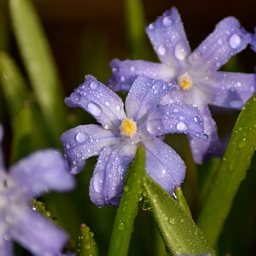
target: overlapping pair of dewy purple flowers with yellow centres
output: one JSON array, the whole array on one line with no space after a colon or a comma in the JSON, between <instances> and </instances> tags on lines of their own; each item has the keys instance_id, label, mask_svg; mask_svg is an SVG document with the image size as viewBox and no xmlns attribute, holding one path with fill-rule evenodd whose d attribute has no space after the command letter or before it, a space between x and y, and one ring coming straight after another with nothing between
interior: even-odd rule
<instances>
[{"instance_id":1,"label":"overlapping pair of dewy purple flowers with yellow centres","mask_svg":"<svg viewBox=\"0 0 256 256\"><path fill-rule=\"evenodd\" d=\"M102 125L80 125L61 137L67 168L74 174L83 170L87 158L99 154L90 180L90 199L98 207L119 205L137 143L146 148L146 172L172 195L183 182L185 165L160 135L186 133L199 164L222 156L224 148L208 105L241 109L255 91L255 74L218 71L255 42L235 18L221 20L193 52L175 8L146 32L161 63L110 63L113 77L108 87L129 91L125 109L119 96L92 76L66 99L69 107L83 108Z\"/></svg>"}]
</instances>

